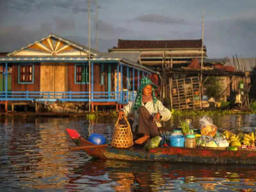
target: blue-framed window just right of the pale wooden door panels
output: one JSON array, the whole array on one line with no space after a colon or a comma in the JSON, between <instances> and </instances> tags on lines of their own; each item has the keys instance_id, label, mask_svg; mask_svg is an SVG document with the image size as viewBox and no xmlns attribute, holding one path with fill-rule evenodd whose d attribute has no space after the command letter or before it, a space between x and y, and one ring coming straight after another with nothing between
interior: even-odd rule
<instances>
[{"instance_id":1,"label":"blue-framed window just right of the pale wooden door panels","mask_svg":"<svg viewBox=\"0 0 256 192\"><path fill-rule=\"evenodd\" d=\"M76 83L89 83L88 64L76 65L75 76L76 76Z\"/></svg>"}]
</instances>

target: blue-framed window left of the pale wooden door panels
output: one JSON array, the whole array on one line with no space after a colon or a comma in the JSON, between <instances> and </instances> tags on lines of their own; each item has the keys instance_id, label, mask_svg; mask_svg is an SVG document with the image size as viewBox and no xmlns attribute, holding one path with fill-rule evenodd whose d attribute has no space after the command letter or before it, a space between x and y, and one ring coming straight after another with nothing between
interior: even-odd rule
<instances>
[{"instance_id":1,"label":"blue-framed window left of the pale wooden door panels","mask_svg":"<svg viewBox=\"0 0 256 192\"><path fill-rule=\"evenodd\" d=\"M34 83L34 65L19 65L19 83Z\"/></svg>"}]
</instances>

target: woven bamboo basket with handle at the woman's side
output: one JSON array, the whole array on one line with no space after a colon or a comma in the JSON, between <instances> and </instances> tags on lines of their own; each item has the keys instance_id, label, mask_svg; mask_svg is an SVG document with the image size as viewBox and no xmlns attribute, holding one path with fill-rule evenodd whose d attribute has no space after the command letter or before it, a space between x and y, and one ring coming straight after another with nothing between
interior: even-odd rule
<instances>
[{"instance_id":1,"label":"woven bamboo basket with handle at the woman's side","mask_svg":"<svg viewBox=\"0 0 256 192\"><path fill-rule=\"evenodd\" d=\"M120 118L116 121L116 125L112 135L111 145L116 148L128 148L133 145L133 137L131 126L124 116L125 124L120 124Z\"/></svg>"}]
</instances>

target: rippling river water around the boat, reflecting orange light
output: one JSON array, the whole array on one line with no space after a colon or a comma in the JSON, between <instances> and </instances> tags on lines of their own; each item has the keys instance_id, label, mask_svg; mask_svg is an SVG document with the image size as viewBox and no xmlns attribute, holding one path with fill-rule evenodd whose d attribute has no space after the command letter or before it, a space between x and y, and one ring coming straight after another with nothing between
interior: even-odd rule
<instances>
[{"instance_id":1,"label":"rippling river water around the boat, reflecting orange light","mask_svg":"<svg viewBox=\"0 0 256 192\"><path fill-rule=\"evenodd\" d=\"M199 127L198 117L191 117ZM213 116L219 130L248 131L256 115ZM172 120L173 127L178 120ZM0 191L256 191L256 166L92 159L70 151L65 129L104 134L115 119L0 118Z\"/></svg>"}]
</instances>

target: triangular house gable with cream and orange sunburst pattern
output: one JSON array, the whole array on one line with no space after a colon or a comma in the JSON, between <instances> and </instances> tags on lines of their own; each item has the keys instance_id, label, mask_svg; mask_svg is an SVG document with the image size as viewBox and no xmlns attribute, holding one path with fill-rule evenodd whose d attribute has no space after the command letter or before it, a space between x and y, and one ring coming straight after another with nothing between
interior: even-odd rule
<instances>
[{"instance_id":1,"label":"triangular house gable with cream and orange sunburst pattern","mask_svg":"<svg viewBox=\"0 0 256 192\"><path fill-rule=\"evenodd\" d=\"M91 51L96 56L96 51ZM42 40L29 44L8 56L88 56L88 48L70 42L56 35L49 35Z\"/></svg>"}]
</instances>

